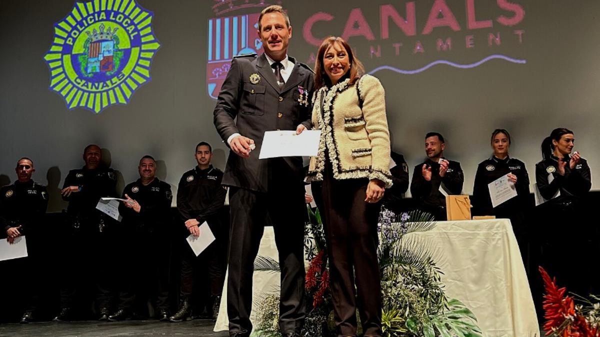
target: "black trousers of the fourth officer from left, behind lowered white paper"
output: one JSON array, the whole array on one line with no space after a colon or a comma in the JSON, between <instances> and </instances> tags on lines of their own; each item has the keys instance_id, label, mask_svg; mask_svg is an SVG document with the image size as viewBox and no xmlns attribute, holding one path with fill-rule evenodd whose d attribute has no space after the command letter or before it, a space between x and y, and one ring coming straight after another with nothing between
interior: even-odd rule
<instances>
[{"instance_id":1,"label":"black trousers of the fourth officer from left, behind lowered white paper","mask_svg":"<svg viewBox=\"0 0 600 337\"><path fill-rule=\"evenodd\" d=\"M194 270L208 270L202 275L207 275L211 285L211 296L221 296L225 282L225 271L227 269L227 240L229 233L221 233L220 224L212 225L211 231L215 241L208 246L200 255L191 250L185 243L181 260L181 294L190 296L194 288ZM198 274L198 273L196 273Z\"/></svg>"}]
</instances>

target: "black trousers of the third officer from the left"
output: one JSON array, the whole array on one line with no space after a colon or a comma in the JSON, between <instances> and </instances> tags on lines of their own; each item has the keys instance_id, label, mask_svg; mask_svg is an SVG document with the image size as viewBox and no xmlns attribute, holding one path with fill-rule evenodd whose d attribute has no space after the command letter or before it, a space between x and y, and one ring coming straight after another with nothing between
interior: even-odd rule
<instances>
[{"instance_id":1,"label":"black trousers of the third officer from the left","mask_svg":"<svg viewBox=\"0 0 600 337\"><path fill-rule=\"evenodd\" d=\"M131 312L145 308L150 299L158 310L169 309L170 240L166 234L133 233L119 245L121 273L115 279L119 288L119 309ZM137 303L136 303L137 302Z\"/></svg>"}]
</instances>

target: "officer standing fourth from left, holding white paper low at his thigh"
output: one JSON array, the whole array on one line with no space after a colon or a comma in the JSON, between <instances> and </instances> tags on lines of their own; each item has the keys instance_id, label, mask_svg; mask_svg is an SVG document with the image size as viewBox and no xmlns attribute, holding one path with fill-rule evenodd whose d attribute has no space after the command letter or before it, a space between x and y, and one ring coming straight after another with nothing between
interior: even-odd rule
<instances>
[{"instance_id":1,"label":"officer standing fourth from left, holding white paper low at his thigh","mask_svg":"<svg viewBox=\"0 0 600 337\"><path fill-rule=\"evenodd\" d=\"M177 209L187 228L188 234L199 236L199 226L205 221L215 236L205 251L198 257L185 243L182 247L181 261L181 306L179 311L169 318L172 322L190 320L192 316L191 295L194 286L194 269L208 269L211 291L211 314L217 319L221 293L227 268L227 244L229 226L223 223L223 204L227 190L221 186L223 172L211 165L212 148L206 142L196 145L195 157L198 165L187 171L179 180L177 190Z\"/></svg>"}]
</instances>

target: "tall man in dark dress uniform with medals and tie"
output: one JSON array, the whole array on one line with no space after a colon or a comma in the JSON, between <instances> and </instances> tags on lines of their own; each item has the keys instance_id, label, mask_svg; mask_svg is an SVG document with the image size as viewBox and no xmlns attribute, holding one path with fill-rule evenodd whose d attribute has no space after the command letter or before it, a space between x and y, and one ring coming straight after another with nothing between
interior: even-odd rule
<instances>
[{"instance_id":1,"label":"tall man in dark dress uniform with medals and tie","mask_svg":"<svg viewBox=\"0 0 600 337\"><path fill-rule=\"evenodd\" d=\"M223 177L231 205L229 333L252 330L253 263L269 215L281 266L280 328L295 336L305 317L302 158L258 157L265 131L312 127L313 72L287 56L292 27L281 6L262 11L257 33L265 53L233 59L214 110L215 127L232 149Z\"/></svg>"}]
</instances>

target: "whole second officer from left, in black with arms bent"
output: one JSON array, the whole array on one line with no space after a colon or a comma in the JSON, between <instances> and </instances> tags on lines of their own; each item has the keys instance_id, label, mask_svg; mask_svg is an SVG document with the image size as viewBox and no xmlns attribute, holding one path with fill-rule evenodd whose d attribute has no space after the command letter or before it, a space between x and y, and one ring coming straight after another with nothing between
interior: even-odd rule
<instances>
[{"instance_id":1,"label":"whole second officer from left, in black with arms bent","mask_svg":"<svg viewBox=\"0 0 600 337\"><path fill-rule=\"evenodd\" d=\"M109 216L96 209L101 197L115 197L115 171L101 164L101 149L98 145L88 145L83 151L85 166L69 171L61 194L69 202L67 219L61 238L64 270L61 280L61 311L54 321L73 317L73 305L77 290L94 285L96 305L100 317L106 320L109 315L110 289L109 260L107 253L112 251L106 236L107 229L114 224Z\"/></svg>"}]
</instances>

